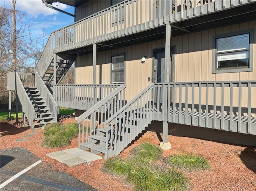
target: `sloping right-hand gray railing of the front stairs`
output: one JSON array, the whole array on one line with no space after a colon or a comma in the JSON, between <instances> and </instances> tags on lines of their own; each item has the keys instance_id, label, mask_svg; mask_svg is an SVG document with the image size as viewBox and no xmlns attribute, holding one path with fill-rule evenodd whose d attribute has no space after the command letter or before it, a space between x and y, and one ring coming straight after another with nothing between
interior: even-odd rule
<instances>
[{"instance_id":1,"label":"sloping right-hand gray railing of the front stairs","mask_svg":"<svg viewBox=\"0 0 256 191\"><path fill-rule=\"evenodd\" d=\"M112 115L110 118L108 118L108 120L106 120L104 126L106 126L106 140L107 143L109 141L109 144L106 144L106 151L105 151L105 158L107 158L109 155L113 156L113 155L118 155L120 154L120 152L123 150L123 148L125 148L128 144L130 144L130 142L133 140L133 138L135 136L138 136L138 134L148 125L150 124L150 122L153 120L153 111L152 109L152 90L154 88L154 83L151 83L148 87L146 87L141 93L139 93L137 96L135 96L130 102L128 102L125 106L123 106L122 108L120 108L120 110L118 112L116 112L114 115ZM148 96L149 94L149 96ZM142 112L142 108L144 108L144 106L142 107L143 104L145 104L145 95L147 95L147 100L146 100L146 110L148 112L146 113L140 113L140 116L138 117L138 113L137 113L137 118L143 118L144 120L142 121L143 123L141 123L141 120L137 120L137 126L140 126L140 129L136 130L136 132L131 132L130 130L130 134L133 134L134 137L130 138L130 140L128 140L128 124L125 123L129 123L129 119L127 117L125 117L127 115L128 112L131 112L132 109L140 109L140 112ZM142 96L144 96L144 103L142 103ZM140 101L140 102L139 102ZM137 106L136 106L136 102L137 102ZM139 106L140 104L140 106ZM133 113L133 117L135 118L135 113ZM146 116L147 115L147 116ZM144 116L144 117L143 117ZM134 120L133 118L133 120ZM146 120L145 120L146 118ZM116 119L116 120L115 120ZM115 121L114 121L115 120ZM132 119L131 119L132 120ZM119 125L123 125L126 128L126 134L125 134L125 130L123 129L121 132L121 129L119 130L113 130L113 126L116 126L116 123L119 123ZM140 123L140 124L139 124ZM109 125L111 124L111 125ZM135 121L134 121L135 124ZM133 124L133 125L134 125ZM111 129L110 129L111 127ZM117 127L115 127L117 128ZM119 127L120 128L120 127ZM121 135L122 133L122 135ZM120 141L120 137L122 136L122 141L125 142L123 144L123 148L120 148L120 142L119 142L119 146L118 146L118 141ZM117 140L117 137L119 137L119 140ZM115 146L115 147L114 147ZM118 150L119 148L119 150ZM114 154L113 154L113 149L114 149ZM108 152L110 150L110 152Z\"/></svg>"}]
</instances>

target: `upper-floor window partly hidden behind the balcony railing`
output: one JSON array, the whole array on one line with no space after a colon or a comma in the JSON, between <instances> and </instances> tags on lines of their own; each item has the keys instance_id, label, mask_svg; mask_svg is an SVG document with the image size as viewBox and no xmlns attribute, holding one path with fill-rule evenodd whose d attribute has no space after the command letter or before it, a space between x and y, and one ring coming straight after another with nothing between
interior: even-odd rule
<instances>
[{"instance_id":1,"label":"upper-floor window partly hidden behind the balcony railing","mask_svg":"<svg viewBox=\"0 0 256 191\"><path fill-rule=\"evenodd\" d=\"M111 6L122 2L123 0L112 0ZM120 6L115 6L114 11L112 11L112 25L122 24L124 23L124 16L125 16L125 8L124 4Z\"/></svg>"}]
</instances>

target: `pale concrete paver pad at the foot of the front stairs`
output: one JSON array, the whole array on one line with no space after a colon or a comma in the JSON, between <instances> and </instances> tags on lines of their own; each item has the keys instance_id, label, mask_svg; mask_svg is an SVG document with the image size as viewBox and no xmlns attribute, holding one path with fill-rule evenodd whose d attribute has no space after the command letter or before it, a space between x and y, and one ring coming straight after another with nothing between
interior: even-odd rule
<instances>
[{"instance_id":1,"label":"pale concrete paver pad at the foot of the front stairs","mask_svg":"<svg viewBox=\"0 0 256 191\"><path fill-rule=\"evenodd\" d=\"M56 151L53 153L48 153L46 154L46 156L52 159L56 159L61 163L64 163L70 167L78 164L102 159L101 156L98 156L88 151L84 151L79 148L71 148L71 149L66 149L62 151Z\"/></svg>"}]
</instances>

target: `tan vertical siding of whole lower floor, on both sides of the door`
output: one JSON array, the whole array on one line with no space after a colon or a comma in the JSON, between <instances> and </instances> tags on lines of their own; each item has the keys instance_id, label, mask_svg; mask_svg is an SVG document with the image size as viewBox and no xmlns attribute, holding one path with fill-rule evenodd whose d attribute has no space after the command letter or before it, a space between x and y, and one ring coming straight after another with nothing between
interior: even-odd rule
<instances>
[{"instance_id":1,"label":"tan vertical siding of whole lower floor, on both sides of the door","mask_svg":"<svg viewBox=\"0 0 256 191\"><path fill-rule=\"evenodd\" d=\"M254 71L252 72L237 72L237 73L221 73L212 74L212 38L214 35L236 32L239 30L246 30L254 28L256 30L255 22L247 22L226 26L223 28L216 28L202 32L191 33L189 35L181 35L172 37L171 45L174 46L175 55L175 68L174 68L174 81L175 82L193 82L193 81L246 81L256 80L256 58L254 56ZM256 32L255 32L256 33ZM254 33L254 35L255 35ZM254 38L256 39L256 37ZM255 40L254 40L255 41ZM126 98L131 100L134 96L138 95L145 87L151 83L152 78L152 50L162 48L165 45L165 39L152 41L148 43L141 43L132 45L125 48L113 49L110 51L97 53L97 83L112 83L110 81L111 55L125 53L125 82ZM256 43L254 43L254 50ZM146 63L141 63L141 58L147 56ZM100 70L100 67L102 68ZM148 77L150 82L148 82ZM76 83L77 84L90 84L92 83L92 55L83 55L76 58ZM224 88L225 98L224 104L229 103L230 93L228 87ZM242 87L242 90L244 88ZM188 92L191 95L192 90ZM252 88L252 95L255 95L255 89ZM242 91L243 92L243 91ZM194 88L194 103L199 104L199 94L206 95L206 88ZM209 95L213 95L213 89L208 90ZM216 87L216 95L221 95L222 88ZM233 96L238 98L238 87L233 88ZM244 93L244 92L243 92ZM254 93L254 94L253 94ZM242 95L243 97L244 95ZM185 87L182 88L181 101L185 101ZM176 92L176 102L179 102L178 92ZM188 101L192 102L192 97L188 96ZM252 106L256 103L252 100ZM242 98L242 105L247 103L247 99ZM201 100L201 104L206 104L206 99ZM213 104L213 98L208 99L209 110L213 111L210 106ZM222 100L216 100L217 106L221 106ZM234 107L238 107L238 99L233 100ZM203 110L203 108L202 108ZM218 108L217 108L218 110ZM218 110L217 112L220 112Z\"/></svg>"}]
</instances>

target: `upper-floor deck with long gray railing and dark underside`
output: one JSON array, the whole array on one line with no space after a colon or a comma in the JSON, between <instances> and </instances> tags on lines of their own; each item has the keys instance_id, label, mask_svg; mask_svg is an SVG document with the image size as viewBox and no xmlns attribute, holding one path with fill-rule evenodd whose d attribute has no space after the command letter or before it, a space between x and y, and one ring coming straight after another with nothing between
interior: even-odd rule
<instances>
[{"instance_id":1,"label":"upper-floor deck with long gray railing and dark underside","mask_svg":"<svg viewBox=\"0 0 256 191\"><path fill-rule=\"evenodd\" d=\"M52 32L36 65L43 74L54 53L73 55L91 51L94 43L99 49L116 47L118 43L131 43L160 37L168 23L172 35L178 35L214 24L225 25L255 18L255 0L126 0L82 20ZM231 10L232 9L232 10ZM222 12L220 14L220 12ZM141 34L145 32L145 34ZM145 39L144 37L147 36ZM125 37L125 39L124 39ZM123 38L123 39L117 39Z\"/></svg>"}]
</instances>

